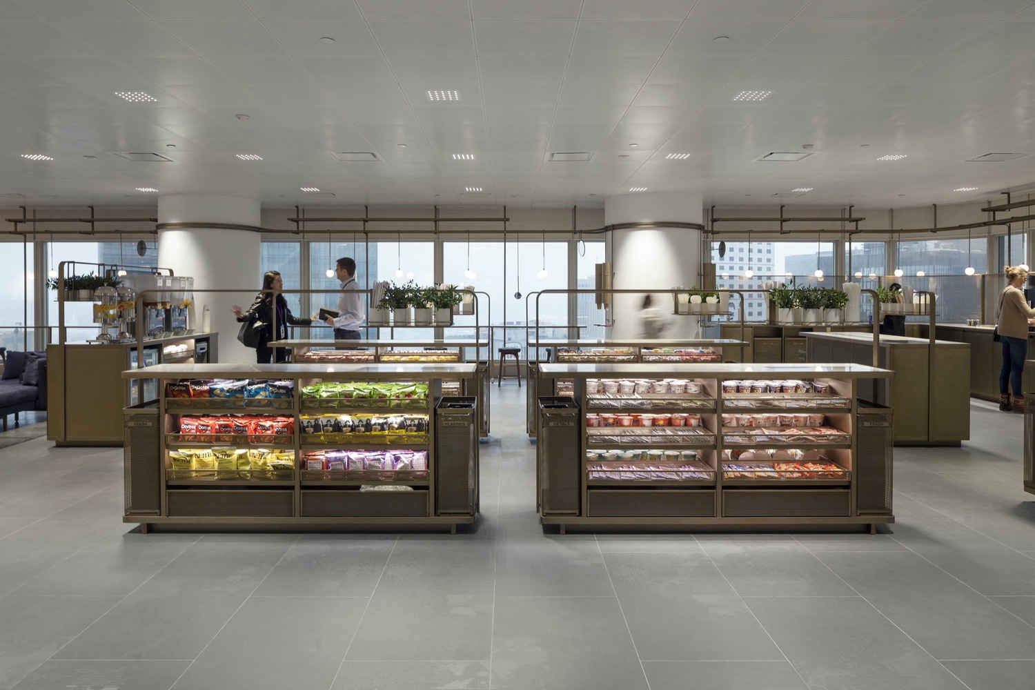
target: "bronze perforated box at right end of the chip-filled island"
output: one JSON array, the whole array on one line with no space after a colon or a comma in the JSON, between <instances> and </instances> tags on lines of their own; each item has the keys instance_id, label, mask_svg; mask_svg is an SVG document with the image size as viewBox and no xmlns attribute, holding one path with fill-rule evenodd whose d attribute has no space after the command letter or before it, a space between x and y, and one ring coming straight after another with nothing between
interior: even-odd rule
<instances>
[{"instance_id":1,"label":"bronze perforated box at right end of the chip-filled island","mask_svg":"<svg viewBox=\"0 0 1035 690\"><path fill-rule=\"evenodd\" d=\"M435 408L435 514L474 515L477 399L443 397Z\"/></svg>"}]
</instances>

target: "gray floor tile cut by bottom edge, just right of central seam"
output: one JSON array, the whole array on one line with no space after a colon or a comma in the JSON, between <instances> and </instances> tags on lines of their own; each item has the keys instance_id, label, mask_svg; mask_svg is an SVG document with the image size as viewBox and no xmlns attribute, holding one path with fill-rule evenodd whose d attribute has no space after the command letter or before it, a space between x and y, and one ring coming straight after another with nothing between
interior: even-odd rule
<instances>
[{"instance_id":1,"label":"gray floor tile cut by bottom edge, just right of central seam","mask_svg":"<svg viewBox=\"0 0 1035 690\"><path fill-rule=\"evenodd\" d=\"M498 599L492 659L498 690L647 688L615 599Z\"/></svg>"}]
</instances>

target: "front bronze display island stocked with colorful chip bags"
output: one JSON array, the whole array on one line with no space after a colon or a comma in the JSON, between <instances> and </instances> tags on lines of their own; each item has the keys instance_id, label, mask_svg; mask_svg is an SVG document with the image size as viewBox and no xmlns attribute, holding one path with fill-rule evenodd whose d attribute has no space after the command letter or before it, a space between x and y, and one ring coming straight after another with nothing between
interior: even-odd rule
<instances>
[{"instance_id":1,"label":"front bronze display island stocked with colorful chip bags","mask_svg":"<svg viewBox=\"0 0 1035 690\"><path fill-rule=\"evenodd\" d=\"M475 520L474 364L158 365L125 410L126 522L440 528Z\"/></svg>"}]
</instances>

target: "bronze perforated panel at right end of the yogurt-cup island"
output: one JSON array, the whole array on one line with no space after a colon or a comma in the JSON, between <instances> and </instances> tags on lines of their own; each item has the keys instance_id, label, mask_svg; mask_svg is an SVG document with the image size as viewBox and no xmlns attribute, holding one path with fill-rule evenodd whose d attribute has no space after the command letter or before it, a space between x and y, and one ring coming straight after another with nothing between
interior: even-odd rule
<instances>
[{"instance_id":1,"label":"bronze perforated panel at right end of the yogurt-cup island","mask_svg":"<svg viewBox=\"0 0 1035 690\"><path fill-rule=\"evenodd\" d=\"M887 408L860 409L856 417L856 512L859 515L891 513L894 469L893 416Z\"/></svg>"}]
</instances>

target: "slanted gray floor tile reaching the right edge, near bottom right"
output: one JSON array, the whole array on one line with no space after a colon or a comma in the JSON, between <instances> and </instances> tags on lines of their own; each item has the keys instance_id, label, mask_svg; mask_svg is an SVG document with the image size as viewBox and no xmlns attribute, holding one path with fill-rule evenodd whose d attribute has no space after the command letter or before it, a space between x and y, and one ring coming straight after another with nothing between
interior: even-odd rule
<instances>
[{"instance_id":1,"label":"slanted gray floor tile reaching the right edge, near bottom right","mask_svg":"<svg viewBox=\"0 0 1035 690\"><path fill-rule=\"evenodd\" d=\"M915 553L820 558L936 659L1035 653L1035 629Z\"/></svg>"}]
</instances>

